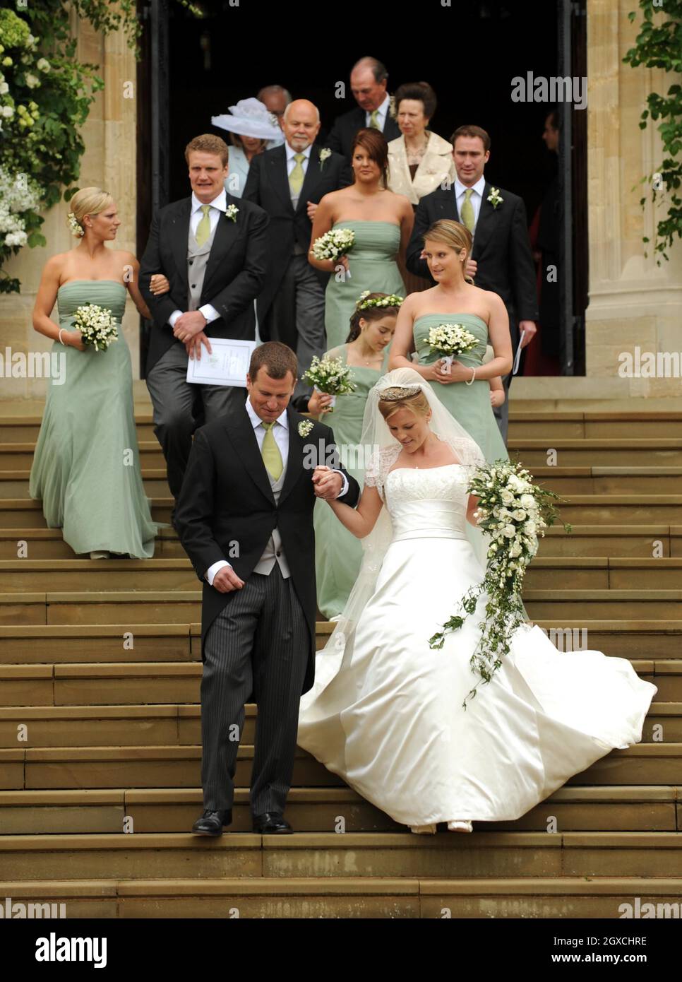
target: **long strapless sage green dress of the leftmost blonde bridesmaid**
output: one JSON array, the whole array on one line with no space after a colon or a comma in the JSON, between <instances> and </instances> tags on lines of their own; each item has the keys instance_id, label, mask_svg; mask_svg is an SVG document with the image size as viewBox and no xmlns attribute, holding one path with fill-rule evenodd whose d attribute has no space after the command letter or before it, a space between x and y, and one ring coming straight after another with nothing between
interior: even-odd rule
<instances>
[{"instance_id":1,"label":"long strapless sage green dress of the leftmost blonde bridesmaid","mask_svg":"<svg viewBox=\"0 0 682 982\"><path fill-rule=\"evenodd\" d=\"M119 336L101 352L54 342L53 356L66 358L64 383L50 379L28 492L75 553L149 559L158 526L142 485L131 353L120 328L126 296L115 280L72 280L59 288L61 327L72 330L76 308L97 303L112 311Z\"/></svg>"}]
</instances>

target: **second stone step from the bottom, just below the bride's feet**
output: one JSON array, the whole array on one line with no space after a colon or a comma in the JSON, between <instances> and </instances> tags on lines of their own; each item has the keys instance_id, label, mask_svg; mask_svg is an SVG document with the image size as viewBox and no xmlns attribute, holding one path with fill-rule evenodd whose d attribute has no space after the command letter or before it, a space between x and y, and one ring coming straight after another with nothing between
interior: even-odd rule
<instances>
[{"instance_id":1,"label":"second stone step from the bottom, just below the bride's feet","mask_svg":"<svg viewBox=\"0 0 682 982\"><path fill-rule=\"evenodd\" d=\"M672 832L183 833L0 836L10 881L206 877L682 876ZM646 880L644 881L646 883Z\"/></svg>"}]
</instances>

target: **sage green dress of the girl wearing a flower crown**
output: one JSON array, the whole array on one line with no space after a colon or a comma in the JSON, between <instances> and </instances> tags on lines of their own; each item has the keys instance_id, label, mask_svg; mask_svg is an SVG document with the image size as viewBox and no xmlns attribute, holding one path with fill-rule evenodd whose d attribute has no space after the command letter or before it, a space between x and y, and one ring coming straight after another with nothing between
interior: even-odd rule
<instances>
[{"instance_id":1,"label":"sage green dress of the girl wearing a flower crown","mask_svg":"<svg viewBox=\"0 0 682 982\"><path fill-rule=\"evenodd\" d=\"M322 420L334 430L334 438L341 452L343 445L359 447L362 437L362 416L370 393L389 366L389 345L384 351L381 371L358 365L350 366L350 378L355 383L354 392L337 396L333 412L325 412ZM334 349L327 354L341 357L348 363L348 346ZM367 461L362 453L350 453L347 461L342 460L346 470L355 478L360 487L364 482ZM358 464L353 466L352 464ZM348 594L357 579L362 562L362 544L341 524L327 502L315 502L313 510L315 528L315 577L317 579L317 606L326 618L341 614Z\"/></svg>"}]
</instances>

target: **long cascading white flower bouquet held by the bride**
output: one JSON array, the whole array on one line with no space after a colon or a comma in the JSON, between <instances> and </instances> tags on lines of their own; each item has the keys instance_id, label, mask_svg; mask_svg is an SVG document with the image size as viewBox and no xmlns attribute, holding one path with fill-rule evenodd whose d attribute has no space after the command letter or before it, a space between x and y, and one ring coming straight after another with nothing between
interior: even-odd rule
<instances>
[{"instance_id":1,"label":"long cascading white flower bouquet held by the bride","mask_svg":"<svg viewBox=\"0 0 682 982\"><path fill-rule=\"evenodd\" d=\"M558 518L553 501L559 495L533 484L521 464L496 461L477 467L468 486L477 495L479 526L490 537L486 575L459 601L462 614L453 615L429 638L429 646L442 648L448 631L457 630L473 614L482 593L487 595L485 619L478 645L471 656L471 670L481 676L462 705L476 695L480 682L490 682L509 652L509 638L524 621L521 590L523 577L538 551L538 536ZM571 526L564 522L570 532Z\"/></svg>"}]
</instances>

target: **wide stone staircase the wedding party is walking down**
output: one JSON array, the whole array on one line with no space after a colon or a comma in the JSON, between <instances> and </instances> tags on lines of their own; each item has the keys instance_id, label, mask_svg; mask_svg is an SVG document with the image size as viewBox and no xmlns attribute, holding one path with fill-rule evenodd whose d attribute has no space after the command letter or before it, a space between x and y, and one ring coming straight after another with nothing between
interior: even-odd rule
<instances>
[{"instance_id":1,"label":"wide stone staircase the wedding party is walking down","mask_svg":"<svg viewBox=\"0 0 682 982\"><path fill-rule=\"evenodd\" d=\"M509 450L568 500L527 576L557 645L658 686L643 742L516 822L414 836L299 751L289 837L198 839L200 591L175 533L148 561L76 559L27 481L39 416L0 410L0 897L68 917L606 917L682 893L682 412L511 414ZM153 515L170 517L148 411ZM21 556L22 558L19 558ZM318 646L330 626L318 625ZM584 632L587 632L587 637ZM4 891L4 894L3 894Z\"/></svg>"}]
</instances>

